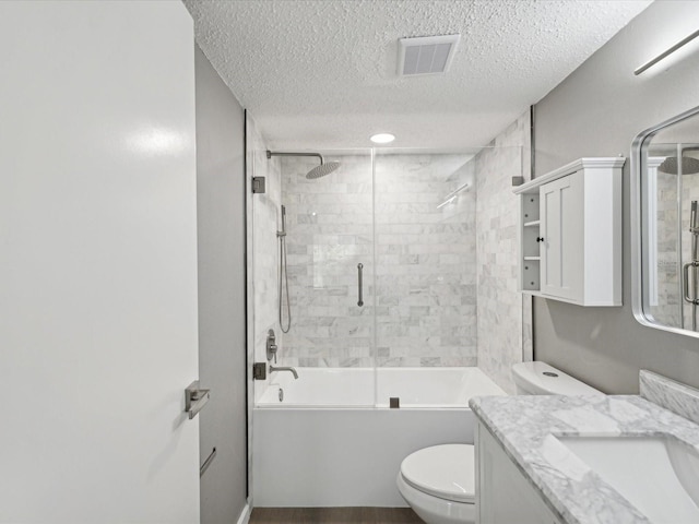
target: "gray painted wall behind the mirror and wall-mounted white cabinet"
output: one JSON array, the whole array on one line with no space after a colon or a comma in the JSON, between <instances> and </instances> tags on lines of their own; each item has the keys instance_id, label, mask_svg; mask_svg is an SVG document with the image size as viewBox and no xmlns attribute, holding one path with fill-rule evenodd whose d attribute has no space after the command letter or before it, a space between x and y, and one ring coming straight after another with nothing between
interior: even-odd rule
<instances>
[{"instance_id":1,"label":"gray painted wall behind the mirror and wall-mounted white cabinet","mask_svg":"<svg viewBox=\"0 0 699 524\"><path fill-rule=\"evenodd\" d=\"M694 32L697 20L699 2L651 4L543 98L535 117L536 176L582 156L628 156L641 130L699 105L699 52L660 71L632 73ZM638 392L639 369L699 386L699 341L643 327L631 311L629 176L627 162L624 307L536 298L535 356L607 393Z\"/></svg>"}]
</instances>

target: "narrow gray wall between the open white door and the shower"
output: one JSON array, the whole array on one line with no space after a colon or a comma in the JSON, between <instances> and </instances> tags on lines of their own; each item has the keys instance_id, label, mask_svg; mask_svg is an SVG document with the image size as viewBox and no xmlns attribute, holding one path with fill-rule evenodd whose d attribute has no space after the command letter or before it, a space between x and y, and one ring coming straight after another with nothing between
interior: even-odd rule
<instances>
[{"instance_id":1,"label":"narrow gray wall between the open white door and the shower","mask_svg":"<svg viewBox=\"0 0 699 524\"><path fill-rule=\"evenodd\" d=\"M244 111L197 48L199 377L202 524L237 522L247 499Z\"/></svg>"}]
</instances>

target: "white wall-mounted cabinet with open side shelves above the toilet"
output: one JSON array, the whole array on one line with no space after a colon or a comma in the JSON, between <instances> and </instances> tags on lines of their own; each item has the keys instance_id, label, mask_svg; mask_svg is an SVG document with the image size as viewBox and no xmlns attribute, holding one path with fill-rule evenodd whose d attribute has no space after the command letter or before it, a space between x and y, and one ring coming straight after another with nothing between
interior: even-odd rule
<instances>
[{"instance_id":1,"label":"white wall-mounted cabinet with open side shelves above the toilet","mask_svg":"<svg viewBox=\"0 0 699 524\"><path fill-rule=\"evenodd\" d=\"M519 289L580 306L621 306L621 169L580 158L514 189Z\"/></svg>"}]
</instances>

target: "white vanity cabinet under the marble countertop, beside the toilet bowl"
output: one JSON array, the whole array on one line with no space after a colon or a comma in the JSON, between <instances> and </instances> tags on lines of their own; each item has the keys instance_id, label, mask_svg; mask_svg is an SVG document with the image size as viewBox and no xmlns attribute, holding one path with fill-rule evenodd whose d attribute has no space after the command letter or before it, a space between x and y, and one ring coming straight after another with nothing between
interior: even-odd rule
<instances>
[{"instance_id":1,"label":"white vanity cabinet under the marble countertop, beside the toilet bowl","mask_svg":"<svg viewBox=\"0 0 699 524\"><path fill-rule=\"evenodd\" d=\"M562 524L482 422L475 444L476 524Z\"/></svg>"}]
</instances>

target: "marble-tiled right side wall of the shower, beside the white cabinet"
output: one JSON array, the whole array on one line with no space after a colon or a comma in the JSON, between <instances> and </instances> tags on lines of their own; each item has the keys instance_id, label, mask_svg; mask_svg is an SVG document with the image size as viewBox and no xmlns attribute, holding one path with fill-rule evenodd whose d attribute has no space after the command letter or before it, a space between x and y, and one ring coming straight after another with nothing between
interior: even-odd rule
<instances>
[{"instance_id":1,"label":"marble-tiled right side wall of the shower, beside the white cabinet","mask_svg":"<svg viewBox=\"0 0 699 524\"><path fill-rule=\"evenodd\" d=\"M531 178L529 130L528 112L475 159L478 367L508 393L514 393L510 367L532 353L532 299L517 290L519 213L511 186L511 177Z\"/></svg>"}]
</instances>

